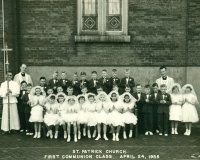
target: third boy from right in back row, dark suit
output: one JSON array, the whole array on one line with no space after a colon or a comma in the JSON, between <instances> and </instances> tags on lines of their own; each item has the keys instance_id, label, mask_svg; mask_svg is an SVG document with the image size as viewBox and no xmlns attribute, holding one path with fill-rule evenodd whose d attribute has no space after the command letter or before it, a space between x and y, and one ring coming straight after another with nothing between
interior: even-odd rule
<instances>
[{"instance_id":1,"label":"third boy from right in back row, dark suit","mask_svg":"<svg viewBox=\"0 0 200 160\"><path fill-rule=\"evenodd\" d=\"M102 86L104 92L106 92L107 94L110 93L110 90L111 90L110 79L107 78L106 69L102 71L102 77L99 79L99 85Z\"/></svg>"}]
</instances>

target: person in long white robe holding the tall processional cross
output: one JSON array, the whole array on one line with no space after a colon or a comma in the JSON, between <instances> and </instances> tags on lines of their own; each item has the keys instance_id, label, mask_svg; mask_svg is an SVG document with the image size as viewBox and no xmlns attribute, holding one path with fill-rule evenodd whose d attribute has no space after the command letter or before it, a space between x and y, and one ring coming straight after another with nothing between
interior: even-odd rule
<instances>
[{"instance_id":1,"label":"person in long white robe holding the tall processional cross","mask_svg":"<svg viewBox=\"0 0 200 160\"><path fill-rule=\"evenodd\" d=\"M0 96L3 98L1 129L4 132L9 131L9 123L10 123L10 130L20 129L19 115L17 110L17 98L16 98L20 93L20 86L17 84L17 82L12 81L12 78L13 74L11 72L8 72L7 80L9 81L9 89L7 88L8 87L7 81L3 82L0 88ZM8 96L10 98L9 110L8 110ZM8 116L8 114L10 115Z\"/></svg>"}]
</instances>

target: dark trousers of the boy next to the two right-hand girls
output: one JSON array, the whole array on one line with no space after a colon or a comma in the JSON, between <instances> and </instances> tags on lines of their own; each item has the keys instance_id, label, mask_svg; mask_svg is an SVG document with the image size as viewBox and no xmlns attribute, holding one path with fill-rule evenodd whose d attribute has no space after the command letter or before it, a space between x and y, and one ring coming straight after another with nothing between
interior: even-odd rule
<instances>
[{"instance_id":1,"label":"dark trousers of the boy next to the two right-hand girls","mask_svg":"<svg viewBox=\"0 0 200 160\"><path fill-rule=\"evenodd\" d=\"M169 113L158 113L159 132L168 134Z\"/></svg>"}]
</instances>

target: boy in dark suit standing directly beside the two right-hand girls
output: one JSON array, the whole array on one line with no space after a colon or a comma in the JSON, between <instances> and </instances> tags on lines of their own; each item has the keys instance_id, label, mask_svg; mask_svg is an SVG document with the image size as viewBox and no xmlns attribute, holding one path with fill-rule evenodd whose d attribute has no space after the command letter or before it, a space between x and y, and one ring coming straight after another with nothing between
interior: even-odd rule
<instances>
[{"instance_id":1,"label":"boy in dark suit standing directly beside the two right-hand girls","mask_svg":"<svg viewBox=\"0 0 200 160\"><path fill-rule=\"evenodd\" d=\"M167 86L160 86L161 93L157 95L159 135L168 136L169 106L172 104L171 96L166 93Z\"/></svg>"}]
</instances>

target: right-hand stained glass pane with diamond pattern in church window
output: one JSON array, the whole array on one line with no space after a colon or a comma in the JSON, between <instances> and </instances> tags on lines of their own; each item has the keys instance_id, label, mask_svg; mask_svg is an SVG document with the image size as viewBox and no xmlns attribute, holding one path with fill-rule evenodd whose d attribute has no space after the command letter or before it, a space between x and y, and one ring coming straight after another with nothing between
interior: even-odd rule
<instances>
[{"instance_id":1,"label":"right-hand stained glass pane with diamond pattern in church window","mask_svg":"<svg viewBox=\"0 0 200 160\"><path fill-rule=\"evenodd\" d=\"M106 1L106 30L122 31L122 0Z\"/></svg>"}]
</instances>

